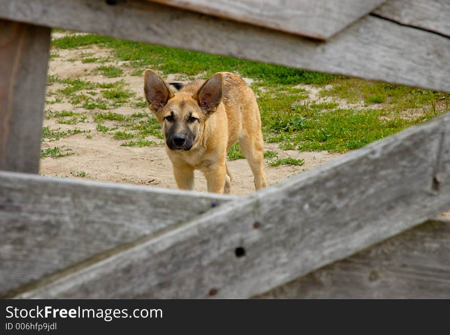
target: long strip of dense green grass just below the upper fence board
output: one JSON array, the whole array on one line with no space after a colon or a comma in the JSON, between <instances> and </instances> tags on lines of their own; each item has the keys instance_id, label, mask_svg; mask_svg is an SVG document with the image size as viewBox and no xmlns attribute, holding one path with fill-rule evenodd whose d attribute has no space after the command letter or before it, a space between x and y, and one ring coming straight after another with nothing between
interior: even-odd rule
<instances>
[{"instance_id":1,"label":"long strip of dense green grass just below the upper fence board","mask_svg":"<svg viewBox=\"0 0 450 335\"><path fill-rule=\"evenodd\" d=\"M239 73L243 77L253 78L260 81L260 84L268 86L299 83L326 84L335 78L335 76L329 74L154 46L147 43L137 43L93 34L64 36L52 41L52 46L56 49L73 49L91 45L114 49L115 56L118 59L129 61L131 66L140 68L139 71L142 71L141 69L144 67L148 67L163 73L185 73L191 76L205 73L205 77L219 71L229 71ZM105 71L108 72L109 70ZM111 72L114 76L119 74L119 71L114 69L111 69ZM142 75L142 72L139 74L137 70L135 74Z\"/></svg>"}]
</instances>

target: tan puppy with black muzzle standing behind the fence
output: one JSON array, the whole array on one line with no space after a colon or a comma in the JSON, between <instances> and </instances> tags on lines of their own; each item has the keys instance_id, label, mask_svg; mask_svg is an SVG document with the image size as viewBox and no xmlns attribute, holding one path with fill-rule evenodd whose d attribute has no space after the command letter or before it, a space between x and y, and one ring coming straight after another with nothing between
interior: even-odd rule
<instances>
[{"instance_id":1,"label":"tan puppy with black muzzle standing behind the fence","mask_svg":"<svg viewBox=\"0 0 450 335\"><path fill-rule=\"evenodd\" d=\"M192 190L194 170L206 177L208 191L230 193L232 175L227 151L239 140L253 172L255 188L267 186L263 171L261 118L255 95L243 80L219 72L172 93L156 72L145 71L148 107L162 125L166 152L180 189Z\"/></svg>"}]
</instances>

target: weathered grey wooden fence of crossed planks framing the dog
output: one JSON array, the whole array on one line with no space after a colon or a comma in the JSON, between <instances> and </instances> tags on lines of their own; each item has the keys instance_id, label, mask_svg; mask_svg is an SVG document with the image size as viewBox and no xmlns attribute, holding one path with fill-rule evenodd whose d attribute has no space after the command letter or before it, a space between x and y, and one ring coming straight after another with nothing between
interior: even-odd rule
<instances>
[{"instance_id":1,"label":"weathered grey wooden fence of crossed planks framing the dog","mask_svg":"<svg viewBox=\"0 0 450 335\"><path fill-rule=\"evenodd\" d=\"M47 27L450 92L444 0L157 2L0 0L0 296L450 297L450 114L245 197L33 174Z\"/></svg>"}]
</instances>

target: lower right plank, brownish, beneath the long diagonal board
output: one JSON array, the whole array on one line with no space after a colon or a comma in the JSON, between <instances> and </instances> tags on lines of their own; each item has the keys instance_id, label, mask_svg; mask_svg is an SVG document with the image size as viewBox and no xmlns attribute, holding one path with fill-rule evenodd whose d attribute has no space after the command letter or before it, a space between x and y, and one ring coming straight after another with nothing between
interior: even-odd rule
<instances>
[{"instance_id":1,"label":"lower right plank, brownish, beneath the long diagonal board","mask_svg":"<svg viewBox=\"0 0 450 335\"><path fill-rule=\"evenodd\" d=\"M450 221L429 221L258 299L449 299Z\"/></svg>"}]
</instances>

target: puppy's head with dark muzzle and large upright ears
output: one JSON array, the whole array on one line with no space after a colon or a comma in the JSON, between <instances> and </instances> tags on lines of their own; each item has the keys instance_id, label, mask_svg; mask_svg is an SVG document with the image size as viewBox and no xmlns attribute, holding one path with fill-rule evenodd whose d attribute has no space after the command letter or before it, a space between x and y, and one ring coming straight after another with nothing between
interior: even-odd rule
<instances>
[{"instance_id":1,"label":"puppy's head with dark muzzle and large upright ears","mask_svg":"<svg viewBox=\"0 0 450 335\"><path fill-rule=\"evenodd\" d=\"M159 74L145 70L148 107L160 121L170 150L190 150L201 138L205 122L222 99L222 74L210 77L198 90L172 93Z\"/></svg>"}]
</instances>

